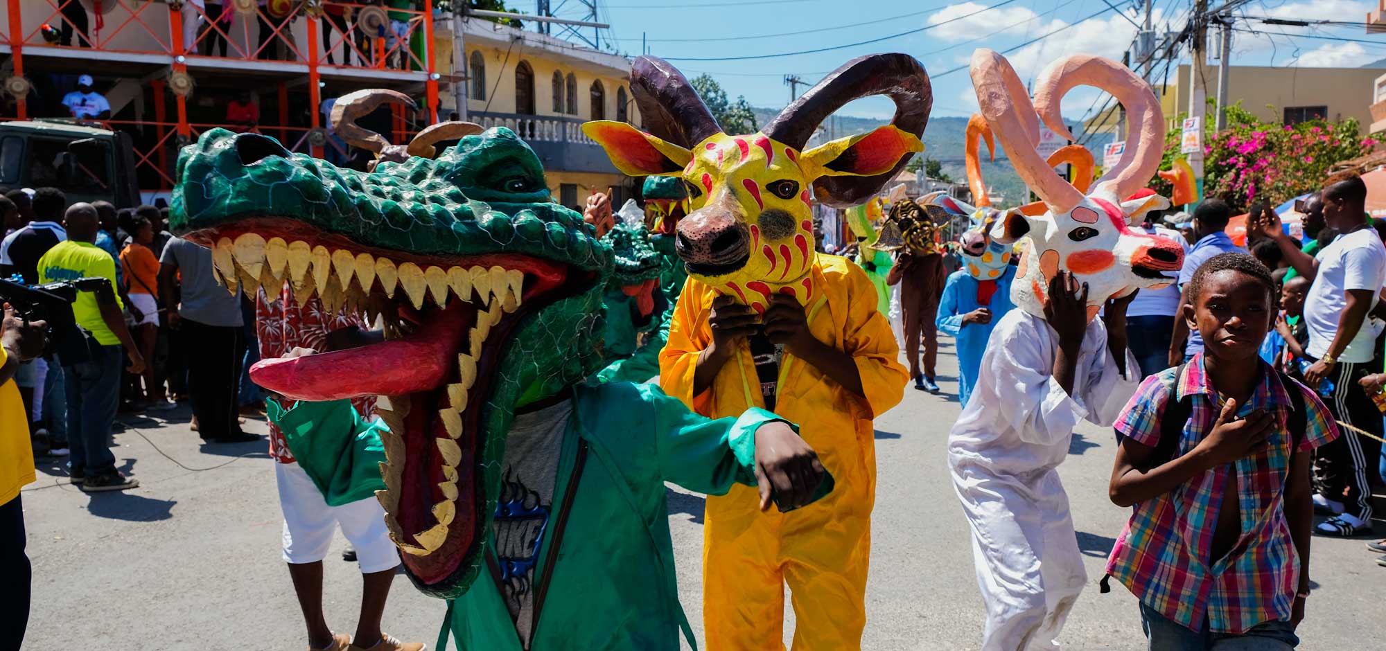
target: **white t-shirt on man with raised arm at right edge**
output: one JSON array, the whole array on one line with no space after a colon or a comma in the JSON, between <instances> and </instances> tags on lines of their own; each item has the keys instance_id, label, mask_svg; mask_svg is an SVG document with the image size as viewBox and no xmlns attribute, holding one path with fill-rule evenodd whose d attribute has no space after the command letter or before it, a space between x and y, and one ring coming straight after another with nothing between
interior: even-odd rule
<instances>
[{"instance_id":1,"label":"white t-shirt on man with raised arm at right edge","mask_svg":"<svg viewBox=\"0 0 1386 651\"><path fill-rule=\"evenodd\" d=\"M1349 289L1369 289L1371 305L1376 306L1378 294L1386 284L1386 247L1376 229L1361 229L1337 235L1314 258L1318 259L1318 274L1304 296L1304 324L1308 327L1307 352L1322 357L1337 334L1337 320L1347 307ZM1375 339L1372 328L1364 324L1337 360L1371 362Z\"/></svg>"}]
</instances>

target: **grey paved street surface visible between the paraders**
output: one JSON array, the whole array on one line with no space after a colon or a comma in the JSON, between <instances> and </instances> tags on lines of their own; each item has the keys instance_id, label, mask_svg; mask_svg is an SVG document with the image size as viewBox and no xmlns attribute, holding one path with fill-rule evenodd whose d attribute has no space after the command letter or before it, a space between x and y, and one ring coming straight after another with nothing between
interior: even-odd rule
<instances>
[{"instance_id":1,"label":"grey paved street surface visible between the paraders","mask_svg":"<svg viewBox=\"0 0 1386 651\"><path fill-rule=\"evenodd\" d=\"M872 544L869 621L863 648L972 650L981 634L981 600L966 524L944 461L958 414L951 348L940 355L947 396L906 389L876 421L879 486ZM305 637L280 560L280 511L266 443L198 446L187 409L126 418L115 456L140 479L126 493L89 497L57 468L40 468L24 493L35 594L25 648L302 650ZM263 432L251 421L247 429ZM186 465L180 467L170 458ZM1098 594L1096 580L1125 510L1106 499L1112 435L1074 434L1060 472L1073 500L1089 587L1063 640L1076 650L1142 650L1135 600L1120 586ZM211 468L223 464L215 470ZM703 497L669 494L669 524L685 608L701 637ZM1383 530L1386 533L1386 530ZM338 630L355 627L360 580L335 554L326 564L326 608ZM1361 540L1314 539L1315 591L1300 629L1306 650L1379 648L1386 568ZM398 578L385 630L432 648L444 604ZM793 618L786 625L786 641Z\"/></svg>"}]
</instances>

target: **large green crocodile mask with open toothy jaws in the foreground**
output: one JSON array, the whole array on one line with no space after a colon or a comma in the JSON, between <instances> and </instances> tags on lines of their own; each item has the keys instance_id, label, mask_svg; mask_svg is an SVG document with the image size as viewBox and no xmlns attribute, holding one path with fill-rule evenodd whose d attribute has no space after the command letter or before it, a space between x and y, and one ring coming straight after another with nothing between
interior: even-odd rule
<instances>
[{"instance_id":1,"label":"large green crocodile mask with open toothy jaws in the foreground","mask_svg":"<svg viewBox=\"0 0 1386 651\"><path fill-rule=\"evenodd\" d=\"M227 285L287 278L301 302L384 319L381 344L251 375L290 399L385 396L391 539L420 590L455 598L484 564L516 409L602 366L613 256L507 129L395 154L360 173L212 129L179 157L170 226Z\"/></svg>"}]
</instances>

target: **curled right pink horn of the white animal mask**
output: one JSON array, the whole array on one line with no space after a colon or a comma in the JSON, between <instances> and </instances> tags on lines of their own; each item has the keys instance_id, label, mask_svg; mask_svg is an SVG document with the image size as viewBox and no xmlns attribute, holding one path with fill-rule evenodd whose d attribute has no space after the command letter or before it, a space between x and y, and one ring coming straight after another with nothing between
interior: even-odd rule
<instances>
[{"instance_id":1,"label":"curled right pink horn of the white animal mask","mask_svg":"<svg viewBox=\"0 0 1386 651\"><path fill-rule=\"evenodd\" d=\"M1121 159L1098 180L1096 191L1128 197L1141 190L1156 170L1164 148L1164 114L1143 79L1116 61L1074 54L1049 64L1035 80L1035 111L1055 133L1073 140L1059 115L1059 101L1076 86L1112 93L1127 111L1131 130ZM1010 151L1009 148L1006 151Z\"/></svg>"}]
</instances>

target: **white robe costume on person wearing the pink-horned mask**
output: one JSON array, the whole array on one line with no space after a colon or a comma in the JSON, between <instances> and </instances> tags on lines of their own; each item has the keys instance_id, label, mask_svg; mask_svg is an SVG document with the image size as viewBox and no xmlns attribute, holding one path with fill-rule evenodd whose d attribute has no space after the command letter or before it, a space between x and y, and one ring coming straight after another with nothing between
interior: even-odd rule
<instances>
[{"instance_id":1,"label":"white robe costume on person wearing the pink-horned mask","mask_svg":"<svg viewBox=\"0 0 1386 651\"><path fill-rule=\"evenodd\" d=\"M1087 572L1055 470L1081 420L1110 427L1141 384L1127 352L1123 375L1102 319L1088 323L1073 396L1051 374L1059 338L1023 309L987 342L972 400L948 436L954 488L973 535L987 603L983 651L1055 650Z\"/></svg>"}]
</instances>

